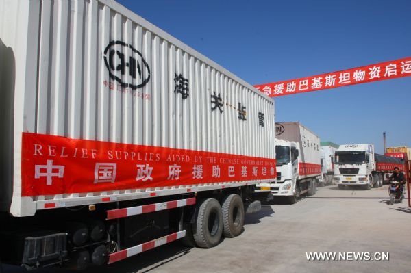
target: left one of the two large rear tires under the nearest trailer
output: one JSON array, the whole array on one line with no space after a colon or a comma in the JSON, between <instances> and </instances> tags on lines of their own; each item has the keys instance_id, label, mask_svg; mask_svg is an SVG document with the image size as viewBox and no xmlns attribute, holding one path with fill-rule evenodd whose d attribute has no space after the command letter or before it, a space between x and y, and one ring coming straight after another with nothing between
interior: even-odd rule
<instances>
[{"instance_id":1,"label":"left one of the two large rear tires under the nearest trailer","mask_svg":"<svg viewBox=\"0 0 411 273\"><path fill-rule=\"evenodd\" d=\"M212 248L221 241L223 213L219 201L208 198L198 208L194 240L200 248Z\"/></svg>"}]
</instances>

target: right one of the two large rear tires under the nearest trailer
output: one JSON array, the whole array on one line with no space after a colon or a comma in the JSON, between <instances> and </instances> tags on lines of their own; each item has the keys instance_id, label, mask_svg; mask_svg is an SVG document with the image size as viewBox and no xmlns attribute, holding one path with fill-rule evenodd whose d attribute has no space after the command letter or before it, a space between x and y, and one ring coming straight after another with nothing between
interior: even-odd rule
<instances>
[{"instance_id":1,"label":"right one of the two large rear tires under the nearest trailer","mask_svg":"<svg viewBox=\"0 0 411 273\"><path fill-rule=\"evenodd\" d=\"M224 237L234 238L240 235L245 218L242 198L238 194L230 194L225 198L221 211L223 212Z\"/></svg>"}]
</instances>

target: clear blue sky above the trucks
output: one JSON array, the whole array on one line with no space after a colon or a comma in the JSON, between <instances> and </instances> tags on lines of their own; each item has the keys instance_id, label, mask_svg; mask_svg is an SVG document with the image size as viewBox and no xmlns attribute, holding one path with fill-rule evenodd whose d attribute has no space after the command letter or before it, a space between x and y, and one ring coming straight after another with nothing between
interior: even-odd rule
<instances>
[{"instance_id":1,"label":"clear blue sky above the trucks","mask_svg":"<svg viewBox=\"0 0 411 273\"><path fill-rule=\"evenodd\" d=\"M411 1L132 1L136 14L251 84L411 56ZM300 121L338 144L411 146L411 77L275 99L277 121Z\"/></svg>"}]
</instances>

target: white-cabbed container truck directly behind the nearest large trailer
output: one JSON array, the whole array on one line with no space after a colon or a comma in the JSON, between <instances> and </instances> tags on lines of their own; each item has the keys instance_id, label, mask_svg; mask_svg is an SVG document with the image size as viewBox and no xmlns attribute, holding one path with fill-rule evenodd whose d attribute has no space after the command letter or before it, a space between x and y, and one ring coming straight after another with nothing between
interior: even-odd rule
<instances>
[{"instance_id":1,"label":"white-cabbed container truck directly behind the nearest large trailer","mask_svg":"<svg viewBox=\"0 0 411 273\"><path fill-rule=\"evenodd\" d=\"M274 198L286 196L296 203L301 194L313 195L321 175L320 139L299 122L275 124L277 178L260 183L256 192L271 192Z\"/></svg>"}]
</instances>

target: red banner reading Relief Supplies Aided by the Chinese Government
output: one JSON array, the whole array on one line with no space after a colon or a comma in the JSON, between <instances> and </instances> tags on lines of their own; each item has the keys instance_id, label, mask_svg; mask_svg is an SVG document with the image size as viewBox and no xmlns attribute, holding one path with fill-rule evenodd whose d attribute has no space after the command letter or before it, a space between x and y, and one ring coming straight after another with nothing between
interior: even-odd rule
<instances>
[{"instance_id":1,"label":"red banner reading Relief Supplies Aided by the Chinese Government","mask_svg":"<svg viewBox=\"0 0 411 273\"><path fill-rule=\"evenodd\" d=\"M23 133L22 196L275 179L275 159Z\"/></svg>"}]
</instances>

